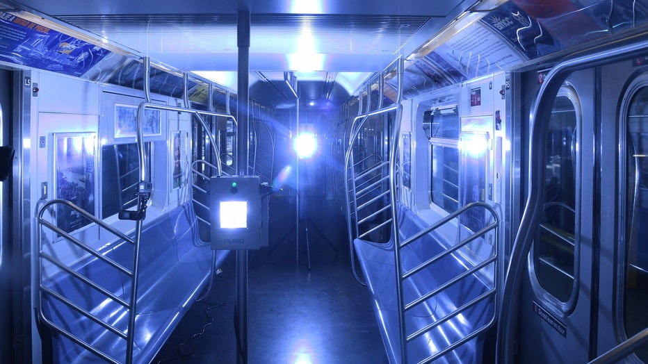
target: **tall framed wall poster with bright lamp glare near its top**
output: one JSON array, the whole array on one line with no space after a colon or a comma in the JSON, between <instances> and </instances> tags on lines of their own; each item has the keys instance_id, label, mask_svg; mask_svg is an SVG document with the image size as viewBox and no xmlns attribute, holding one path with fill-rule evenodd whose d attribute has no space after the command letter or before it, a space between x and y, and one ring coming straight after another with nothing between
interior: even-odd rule
<instances>
[{"instance_id":1,"label":"tall framed wall poster with bright lamp glare near its top","mask_svg":"<svg viewBox=\"0 0 648 364\"><path fill-rule=\"evenodd\" d=\"M471 202L485 201L486 168L488 165L488 134L461 133L461 206ZM461 224L475 232L486 222L483 208L466 211L461 215Z\"/></svg>"}]
</instances>

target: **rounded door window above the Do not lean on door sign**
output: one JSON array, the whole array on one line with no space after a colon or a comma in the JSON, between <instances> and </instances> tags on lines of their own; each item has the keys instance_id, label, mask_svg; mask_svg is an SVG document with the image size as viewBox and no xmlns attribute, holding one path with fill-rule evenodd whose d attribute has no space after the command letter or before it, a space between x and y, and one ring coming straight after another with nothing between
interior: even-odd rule
<instances>
[{"instance_id":1,"label":"rounded door window above the Do not lean on door sign","mask_svg":"<svg viewBox=\"0 0 648 364\"><path fill-rule=\"evenodd\" d=\"M559 93L547 132L544 204L533 263L540 286L563 303L574 292L577 128L574 102Z\"/></svg>"}]
</instances>

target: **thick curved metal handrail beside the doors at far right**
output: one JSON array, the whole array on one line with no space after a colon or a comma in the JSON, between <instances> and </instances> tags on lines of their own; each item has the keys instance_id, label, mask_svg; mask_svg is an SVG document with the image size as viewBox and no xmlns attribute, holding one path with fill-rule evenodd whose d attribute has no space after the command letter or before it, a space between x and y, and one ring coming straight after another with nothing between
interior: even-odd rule
<instances>
[{"instance_id":1,"label":"thick curved metal handrail beside the doors at far right","mask_svg":"<svg viewBox=\"0 0 648 364\"><path fill-rule=\"evenodd\" d=\"M546 154L546 130L551 115L551 103L556 98L560 86L567 76L579 69L596 67L617 60L642 56L648 48L648 40L642 35L635 35L626 42L615 42L611 46L602 47L585 56L567 58L554 66L544 78L540 92L530 108L530 148L528 167L528 197L522 215L518 233L510 254L508 270L506 270L504 291L502 293L501 312L497 329L496 362L512 363L512 349L510 345L517 340L512 333L511 313L515 312L515 305L519 301L519 286L521 271L524 269L528 252L533 242L535 226L540 221L542 200L544 199L544 155ZM517 317L515 317L517 320Z\"/></svg>"}]
</instances>

